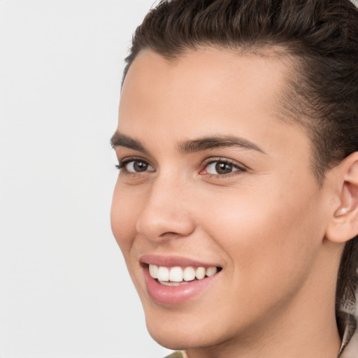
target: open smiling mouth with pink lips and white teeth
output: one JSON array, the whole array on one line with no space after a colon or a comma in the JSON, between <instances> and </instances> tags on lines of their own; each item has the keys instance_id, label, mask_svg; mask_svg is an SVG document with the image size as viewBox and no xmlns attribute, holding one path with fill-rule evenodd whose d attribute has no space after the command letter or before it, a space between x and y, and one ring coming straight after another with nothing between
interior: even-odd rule
<instances>
[{"instance_id":1,"label":"open smiling mouth with pink lips and white teeth","mask_svg":"<svg viewBox=\"0 0 358 358\"><path fill-rule=\"evenodd\" d=\"M148 294L164 305L184 303L203 292L221 267L182 257L141 257Z\"/></svg>"}]
</instances>

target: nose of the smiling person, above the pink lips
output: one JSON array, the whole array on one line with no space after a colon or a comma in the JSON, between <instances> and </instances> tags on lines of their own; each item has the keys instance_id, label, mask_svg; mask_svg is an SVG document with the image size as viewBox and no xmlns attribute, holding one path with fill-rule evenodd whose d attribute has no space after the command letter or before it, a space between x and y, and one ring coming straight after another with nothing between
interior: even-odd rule
<instances>
[{"instance_id":1,"label":"nose of the smiling person, above the pink lips","mask_svg":"<svg viewBox=\"0 0 358 358\"><path fill-rule=\"evenodd\" d=\"M185 183L156 179L136 222L136 230L151 241L189 236L195 229Z\"/></svg>"}]
</instances>

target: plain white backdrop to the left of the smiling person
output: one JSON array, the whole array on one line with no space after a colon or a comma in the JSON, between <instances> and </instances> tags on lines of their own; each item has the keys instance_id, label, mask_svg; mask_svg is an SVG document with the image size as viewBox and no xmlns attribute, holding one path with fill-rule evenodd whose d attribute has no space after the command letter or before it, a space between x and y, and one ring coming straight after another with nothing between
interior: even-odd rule
<instances>
[{"instance_id":1,"label":"plain white backdrop to the left of the smiling person","mask_svg":"<svg viewBox=\"0 0 358 358\"><path fill-rule=\"evenodd\" d=\"M153 0L0 1L0 357L154 358L110 231L123 59Z\"/></svg>"}]
</instances>

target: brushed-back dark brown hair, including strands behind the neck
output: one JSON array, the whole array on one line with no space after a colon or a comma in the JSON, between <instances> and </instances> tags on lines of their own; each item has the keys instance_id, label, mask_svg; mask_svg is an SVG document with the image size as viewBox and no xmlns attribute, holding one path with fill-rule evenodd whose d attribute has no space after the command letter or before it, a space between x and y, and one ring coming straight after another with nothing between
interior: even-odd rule
<instances>
[{"instance_id":1,"label":"brushed-back dark brown hair, including strands behind the neck","mask_svg":"<svg viewBox=\"0 0 358 358\"><path fill-rule=\"evenodd\" d=\"M283 113L303 124L313 143L313 173L358 151L358 10L349 0L168 0L146 15L133 37L123 80L141 50L167 59L208 45L294 61ZM338 272L336 317L347 343L357 323L358 237Z\"/></svg>"}]
</instances>

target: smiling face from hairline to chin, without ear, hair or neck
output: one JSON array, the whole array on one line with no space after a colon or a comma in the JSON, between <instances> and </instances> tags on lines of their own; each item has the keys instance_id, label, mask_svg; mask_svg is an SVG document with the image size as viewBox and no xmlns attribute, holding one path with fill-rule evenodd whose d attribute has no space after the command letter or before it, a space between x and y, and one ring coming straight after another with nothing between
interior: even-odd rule
<instances>
[{"instance_id":1,"label":"smiling face from hairline to chin, without ear, hair or neck","mask_svg":"<svg viewBox=\"0 0 358 358\"><path fill-rule=\"evenodd\" d=\"M282 327L317 294L327 198L306 132L278 119L286 69L210 48L172 61L148 50L129 69L111 222L168 348Z\"/></svg>"}]
</instances>

